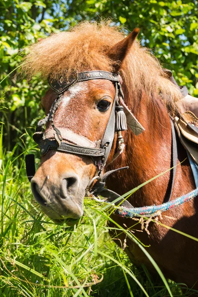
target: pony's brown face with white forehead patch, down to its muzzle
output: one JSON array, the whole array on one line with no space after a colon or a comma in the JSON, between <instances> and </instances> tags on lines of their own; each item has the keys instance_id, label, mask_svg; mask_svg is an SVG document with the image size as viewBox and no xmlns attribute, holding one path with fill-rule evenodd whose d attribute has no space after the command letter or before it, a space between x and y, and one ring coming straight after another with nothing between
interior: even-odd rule
<instances>
[{"instance_id":1,"label":"pony's brown face with white forehead patch, down to its muzzle","mask_svg":"<svg viewBox=\"0 0 198 297\"><path fill-rule=\"evenodd\" d=\"M49 90L42 99L47 113L56 97ZM96 148L96 142L102 140L114 97L115 88L108 80L78 82L64 92L53 118L63 141L81 144L85 150ZM45 132L50 138L48 132L54 139L51 123ZM52 149L42 156L31 186L34 197L51 219L82 216L85 189L99 170L97 159Z\"/></svg>"}]
</instances>

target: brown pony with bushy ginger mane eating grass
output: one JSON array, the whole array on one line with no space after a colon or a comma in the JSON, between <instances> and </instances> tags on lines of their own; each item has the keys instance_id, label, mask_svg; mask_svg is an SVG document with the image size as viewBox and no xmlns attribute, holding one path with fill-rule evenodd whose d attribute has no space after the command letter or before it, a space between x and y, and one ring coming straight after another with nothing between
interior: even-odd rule
<instances>
[{"instance_id":1,"label":"brown pony with bushy ginger mane eating grass","mask_svg":"<svg viewBox=\"0 0 198 297\"><path fill-rule=\"evenodd\" d=\"M81 23L69 32L53 34L32 45L25 58L23 71L28 76L40 72L45 78L68 78L76 72L101 70L120 72L125 103L145 131L135 136L130 130L123 133L126 148L114 161L116 136L108 157L107 169L129 166L110 176L108 188L122 195L171 166L171 124L175 102L180 91L168 80L158 61L149 50L141 48L135 38L138 30L124 36L108 23ZM54 114L57 127L70 129L91 141L102 139L108 122L115 88L109 80L90 80L71 86L62 96ZM56 94L49 89L42 99L49 112ZM99 102L109 108L99 109ZM51 124L47 125L47 131ZM185 149L178 144L178 166L172 198L195 189ZM186 159L186 160L185 160ZM185 161L184 161L185 160ZM182 163L180 163L183 161ZM90 157L49 150L42 156L41 165L32 179L32 189L43 211L55 222L83 215L85 189L96 174ZM153 180L128 200L135 207L163 203L169 192L170 172ZM198 200L195 198L162 214L161 222L184 233L198 237ZM113 215L121 226L134 225L131 219ZM198 288L197 242L156 224L149 233L137 233L163 273L176 282ZM117 234L124 241L125 236ZM147 257L138 246L127 239L131 259L150 267Z\"/></svg>"}]
</instances>

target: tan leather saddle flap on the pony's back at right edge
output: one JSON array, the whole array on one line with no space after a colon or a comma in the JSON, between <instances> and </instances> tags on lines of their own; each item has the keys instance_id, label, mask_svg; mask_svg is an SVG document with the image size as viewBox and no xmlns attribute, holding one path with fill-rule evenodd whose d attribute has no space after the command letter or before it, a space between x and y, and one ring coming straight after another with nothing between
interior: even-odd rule
<instances>
[{"instance_id":1,"label":"tan leather saddle flap on the pony's back at right edge","mask_svg":"<svg viewBox=\"0 0 198 297\"><path fill-rule=\"evenodd\" d=\"M186 111L180 117L174 118L174 125L177 130L179 139L198 165L198 118L191 112Z\"/></svg>"}]
</instances>

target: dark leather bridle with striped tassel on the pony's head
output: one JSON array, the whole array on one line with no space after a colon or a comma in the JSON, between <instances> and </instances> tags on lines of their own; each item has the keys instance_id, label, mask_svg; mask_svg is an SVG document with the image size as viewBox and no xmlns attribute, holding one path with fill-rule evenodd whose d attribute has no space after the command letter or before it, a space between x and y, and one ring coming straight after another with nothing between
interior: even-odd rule
<instances>
[{"instance_id":1,"label":"dark leather bridle with striped tassel on the pony's head","mask_svg":"<svg viewBox=\"0 0 198 297\"><path fill-rule=\"evenodd\" d=\"M101 141L96 141L96 148L88 148L79 146L77 144L66 143L62 141L62 136L58 128L55 127L53 123L54 113L57 110L61 97L66 90L69 89L72 85L78 82L85 82L94 79L105 79L113 83L115 87L115 97L113 99L113 104L109 116L109 120L106 125L106 129L103 134ZM109 174L121 170L127 169L128 167L122 167L115 170L111 170L103 174L103 169L106 165L107 158L109 156L113 140L115 137L115 132L118 133L118 147L123 143L123 138L121 131L127 129L126 116L123 111L123 107L119 105L119 100L124 100L124 95L122 92L122 87L120 83L119 74L107 72L107 71L87 71L78 73L76 77L72 77L70 80L65 80L64 77L60 77L58 80L50 81L49 85L57 93L57 98L52 103L49 110L49 114L42 120L39 121L36 132L33 135L34 141L40 146L41 155L45 155L49 149L57 150L60 152L72 153L77 155L86 155L92 157L95 162L95 165L98 168L97 175L89 183L89 194L98 196L104 190L105 179ZM121 113L120 118L116 121L116 114ZM45 138L43 133L43 126L51 122L53 128L54 137L53 139ZM34 155L26 155L26 171L29 181L33 178L35 174L35 165L34 165ZM93 188L92 183L97 179ZM106 190L105 190L106 191ZM108 190L108 196L111 196L112 191ZM106 193L107 194L107 193ZM114 193L116 194L116 193ZM113 196L114 198L119 197L118 194Z\"/></svg>"}]
</instances>

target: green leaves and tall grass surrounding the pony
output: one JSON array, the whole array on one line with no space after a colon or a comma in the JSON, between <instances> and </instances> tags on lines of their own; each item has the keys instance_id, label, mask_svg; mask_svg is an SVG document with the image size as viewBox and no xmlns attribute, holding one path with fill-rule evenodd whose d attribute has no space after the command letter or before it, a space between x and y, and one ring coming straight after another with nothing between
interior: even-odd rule
<instances>
[{"instance_id":1,"label":"green leaves and tall grass surrounding the pony","mask_svg":"<svg viewBox=\"0 0 198 297\"><path fill-rule=\"evenodd\" d=\"M39 76L17 77L22 49L80 20L106 17L126 33L140 27L141 44L198 96L197 0L0 0L0 297L139 297L137 280L149 296L167 295L161 281L110 240L102 207L85 201L78 227L55 226L31 202L25 176L24 153L38 151L31 136L48 86ZM82 288L100 273L101 284ZM192 292L181 293L171 281L169 287L173 296Z\"/></svg>"}]
</instances>

